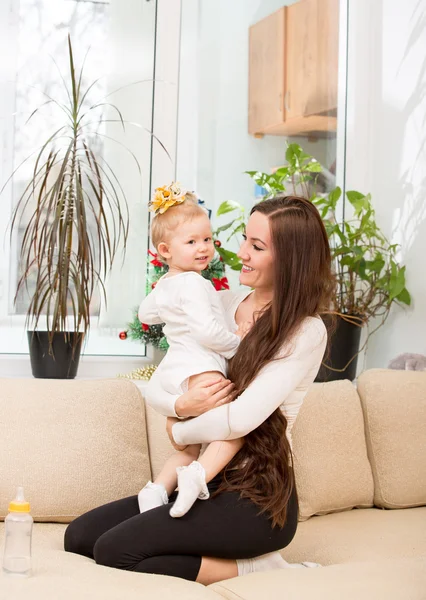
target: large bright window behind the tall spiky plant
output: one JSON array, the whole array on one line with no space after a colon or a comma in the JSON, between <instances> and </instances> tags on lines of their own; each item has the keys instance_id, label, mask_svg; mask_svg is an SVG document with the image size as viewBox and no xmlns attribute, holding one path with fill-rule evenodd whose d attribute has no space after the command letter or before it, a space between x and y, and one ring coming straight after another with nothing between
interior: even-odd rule
<instances>
[{"instance_id":1,"label":"large bright window behind the tall spiky plant","mask_svg":"<svg viewBox=\"0 0 426 600\"><path fill-rule=\"evenodd\" d=\"M55 131L57 111L50 105L29 122L28 117L45 102L46 94L60 99L63 93L59 71L66 78L69 32L76 67L81 67L90 48L83 84L98 80L91 97L100 100L108 95L105 101L118 106L126 121L137 124L128 125L125 133L116 123L99 126L99 150L113 166L129 203L130 233L126 259L123 264L120 257L116 260L106 282L107 307L94 299L84 353L144 354L141 344L123 342L118 333L145 294L152 156L147 131L152 130L153 117L156 10L156 2L132 0L7 0L0 5L0 185L23 163L1 196L0 353L28 352L24 326L28 293L20 293L14 303L25 215L11 244L8 226L13 206L31 177L33 163L23 161ZM106 112L104 118L115 117ZM142 177L124 146L136 155Z\"/></svg>"}]
</instances>

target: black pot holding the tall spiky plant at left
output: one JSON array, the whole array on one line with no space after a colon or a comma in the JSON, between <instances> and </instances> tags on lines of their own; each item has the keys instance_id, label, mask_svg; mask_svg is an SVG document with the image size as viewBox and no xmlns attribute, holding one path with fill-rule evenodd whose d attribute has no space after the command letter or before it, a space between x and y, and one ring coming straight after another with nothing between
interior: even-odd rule
<instances>
[{"instance_id":1,"label":"black pot holding the tall spiky plant at left","mask_svg":"<svg viewBox=\"0 0 426 600\"><path fill-rule=\"evenodd\" d=\"M39 379L74 379L77 375L84 335L74 332L53 334L49 352L47 331L27 331L31 370Z\"/></svg>"}]
</instances>

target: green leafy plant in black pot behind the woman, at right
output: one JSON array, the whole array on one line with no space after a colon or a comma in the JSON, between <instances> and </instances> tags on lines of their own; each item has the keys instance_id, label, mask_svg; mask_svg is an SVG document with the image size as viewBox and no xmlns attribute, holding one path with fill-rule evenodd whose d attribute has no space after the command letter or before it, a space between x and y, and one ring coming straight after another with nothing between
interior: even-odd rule
<instances>
[{"instance_id":1,"label":"green leafy plant in black pot behind the woman, at right","mask_svg":"<svg viewBox=\"0 0 426 600\"><path fill-rule=\"evenodd\" d=\"M336 330L319 381L354 379L361 328L374 320L371 335L385 323L394 303L411 303L405 266L397 258L398 245L391 244L377 226L370 194L346 193L353 217L343 223L336 219L340 198L339 188L312 198L330 239L337 280Z\"/></svg>"}]
</instances>

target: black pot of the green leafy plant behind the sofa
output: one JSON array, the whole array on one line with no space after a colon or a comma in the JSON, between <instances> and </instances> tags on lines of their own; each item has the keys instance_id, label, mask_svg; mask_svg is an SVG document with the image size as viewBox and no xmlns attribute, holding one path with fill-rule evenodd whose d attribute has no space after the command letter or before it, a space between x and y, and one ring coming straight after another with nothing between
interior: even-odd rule
<instances>
[{"instance_id":1,"label":"black pot of the green leafy plant behind the sofa","mask_svg":"<svg viewBox=\"0 0 426 600\"><path fill-rule=\"evenodd\" d=\"M359 318L353 317L353 319L358 321ZM327 316L324 317L324 322L328 325ZM359 323L361 324L361 320ZM342 317L336 317L335 329L329 341L329 351L324 357L315 381L336 381L338 379L353 381L355 379L361 330L362 327L359 325L342 319ZM349 361L351 362L349 363ZM344 369L348 363L349 365ZM331 369L328 369L326 365L329 365ZM332 369L344 370L333 371Z\"/></svg>"}]
</instances>

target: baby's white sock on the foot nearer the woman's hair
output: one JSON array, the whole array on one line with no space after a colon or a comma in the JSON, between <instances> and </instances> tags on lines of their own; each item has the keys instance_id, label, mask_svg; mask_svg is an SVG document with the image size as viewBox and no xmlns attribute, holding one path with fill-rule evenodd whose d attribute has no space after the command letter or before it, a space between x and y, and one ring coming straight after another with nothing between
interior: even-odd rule
<instances>
[{"instance_id":1,"label":"baby's white sock on the foot nearer the woman's hair","mask_svg":"<svg viewBox=\"0 0 426 600\"><path fill-rule=\"evenodd\" d=\"M207 500L209 490L206 484L206 472L203 466L194 460L189 467L177 467L179 493L170 509L170 516L183 517L199 498Z\"/></svg>"}]
</instances>

